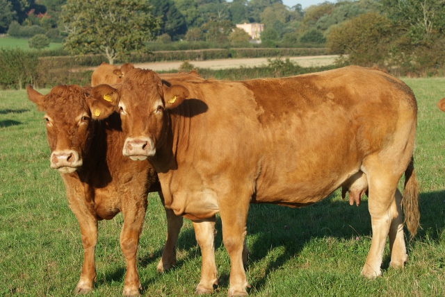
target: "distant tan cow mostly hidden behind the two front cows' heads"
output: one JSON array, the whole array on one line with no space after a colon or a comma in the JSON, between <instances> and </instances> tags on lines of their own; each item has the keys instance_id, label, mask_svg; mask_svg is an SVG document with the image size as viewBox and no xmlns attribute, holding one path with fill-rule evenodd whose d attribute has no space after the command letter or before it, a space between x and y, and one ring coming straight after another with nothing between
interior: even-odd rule
<instances>
[{"instance_id":1,"label":"distant tan cow mostly hidden behind the two front cows' heads","mask_svg":"<svg viewBox=\"0 0 445 297\"><path fill-rule=\"evenodd\" d=\"M97 85L101 85L102 83L106 83L108 85L117 85L122 83L124 80L125 74L134 69L134 66L131 63L126 63L121 67L110 65L106 62L102 62L99 67L92 71L91 75L91 85L95 87Z\"/></svg>"}]
</instances>

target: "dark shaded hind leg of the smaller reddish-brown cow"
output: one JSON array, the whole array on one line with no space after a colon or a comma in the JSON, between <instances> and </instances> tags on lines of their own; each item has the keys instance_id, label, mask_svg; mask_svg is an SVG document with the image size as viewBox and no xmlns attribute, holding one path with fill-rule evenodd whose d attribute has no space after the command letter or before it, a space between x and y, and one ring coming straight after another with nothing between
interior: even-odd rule
<instances>
[{"instance_id":1,"label":"dark shaded hind leg of the smaller reddish-brown cow","mask_svg":"<svg viewBox=\"0 0 445 297\"><path fill-rule=\"evenodd\" d=\"M176 264L176 247L179 231L183 224L183 217L177 216L172 210L165 208L167 217L167 239L162 252L161 260L157 266L159 272L167 271Z\"/></svg>"}]
</instances>

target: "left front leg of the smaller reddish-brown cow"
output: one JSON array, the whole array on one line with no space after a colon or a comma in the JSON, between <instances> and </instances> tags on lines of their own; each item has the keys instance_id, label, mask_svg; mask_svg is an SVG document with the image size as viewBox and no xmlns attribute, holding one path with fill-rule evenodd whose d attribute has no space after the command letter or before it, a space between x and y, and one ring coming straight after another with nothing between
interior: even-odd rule
<instances>
[{"instance_id":1,"label":"left front leg of the smaller reddish-brown cow","mask_svg":"<svg viewBox=\"0 0 445 297\"><path fill-rule=\"evenodd\" d=\"M76 214L76 213L74 213ZM92 291L96 280L95 248L97 244L97 220L90 214L76 214L81 228L83 245L83 265L81 277L77 282L75 294L87 294Z\"/></svg>"}]
</instances>

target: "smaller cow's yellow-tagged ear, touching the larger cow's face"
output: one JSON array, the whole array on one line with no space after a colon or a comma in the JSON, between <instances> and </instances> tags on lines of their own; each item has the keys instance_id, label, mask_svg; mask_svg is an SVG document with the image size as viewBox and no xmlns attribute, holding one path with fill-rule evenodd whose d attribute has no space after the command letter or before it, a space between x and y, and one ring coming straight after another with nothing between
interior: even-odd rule
<instances>
[{"instance_id":1,"label":"smaller cow's yellow-tagged ear, touching the larger cow's face","mask_svg":"<svg viewBox=\"0 0 445 297\"><path fill-rule=\"evenodd\" d=\"M98 85L91 89L87 101L93 119L106 119L118 108L118 90L109 85Z\"/></svg>"}]
</instances>

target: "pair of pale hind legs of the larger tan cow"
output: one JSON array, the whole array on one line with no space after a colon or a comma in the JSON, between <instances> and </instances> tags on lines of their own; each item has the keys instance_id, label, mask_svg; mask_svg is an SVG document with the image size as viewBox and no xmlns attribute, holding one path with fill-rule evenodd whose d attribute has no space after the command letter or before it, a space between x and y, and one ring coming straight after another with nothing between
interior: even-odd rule
<instances>
[{"instance_id":1,"label":"pair of pale hind legs of the larger tan cow","mask_svg":"<svg viewBox=\"0 0 445 297\"><path fill-rule=\"evenodd\" d=\"M382 275L380 266L388 235L392 241L394 264L403 261L405 257L405 243L402 244L401 196L396 201L397 184L403 169L400 170L401 173L398 175L394 173L398 171L395 170L398 169L398 165L395 163L392 163L392 165L391 161L381 162L380 159L372 157L369 157L363 165L364 172L368 176L369 213L371 214L373 231L371 248L362 269L362 275L367 278ZM393 255L391 255L391 260Z\"/></svg>"}]
</instances>

